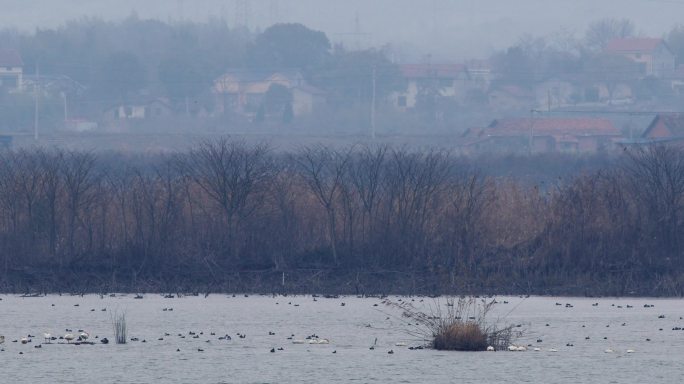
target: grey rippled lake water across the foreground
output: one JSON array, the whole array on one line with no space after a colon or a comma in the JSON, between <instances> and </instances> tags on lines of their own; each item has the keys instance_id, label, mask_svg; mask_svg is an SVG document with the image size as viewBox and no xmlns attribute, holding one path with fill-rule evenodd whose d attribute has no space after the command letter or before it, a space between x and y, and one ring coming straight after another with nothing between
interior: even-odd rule
<instances>
[{"instance_id":1,"label":"grey rippled lake water across the foreground","mask_svg":"<svg viewBox=\"0 0 684 384\"><path fill-rule=\"evenodd\" d=\"M408 346L420 344L406 333L413 327L379 298L314 301L311 296L218 294L173 299L149 294L140 300L133 295L0 298L0 335L6 337L0 345L4 349L0 383L684 381L684 331L672 330L684 327L680 319L684 300L679 299L499 297L508 304L498 304L492 318L507 315L506 323L522 324L525 335L516 343L533 344L542 351L440 352L409 350ZM434 299L413 300L416 305L435 304ZM113 343L115 311L125 311L129 338L140 341ZM67 328L86 330L93 341L96 335L107 337L110 344L34 348L43 342L44 332L61 336ZM192 338L191 331L203 334ZM31 343L12 342L28 334L36 336ZM218 340L225 334L232 340ZM295 339L316 334L330 339L330 344L293 344L287 339L292 334ZM376 348L369 349L376 338ZM408 346L396 346L397 342ZM271 353L271 348L276 352ZM558 352L548 351L551 348ZM615 352L606 353L609 348ZM635 352L626 353L627 349ZM388 354L389 350L394 353Z\"/></svg>"}]
</instances>

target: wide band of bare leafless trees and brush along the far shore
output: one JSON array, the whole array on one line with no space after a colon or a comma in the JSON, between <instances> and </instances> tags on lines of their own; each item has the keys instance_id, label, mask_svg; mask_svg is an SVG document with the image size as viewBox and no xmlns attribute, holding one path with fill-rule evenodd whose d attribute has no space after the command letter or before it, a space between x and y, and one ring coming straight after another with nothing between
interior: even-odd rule
<instances>
[{"instance_id":1,"label":"wide band of bare leafless trees and brush along the far shore","mask_svg":"<svg viewBox=\"0 0 684 384\"><path fill-rule=\"evenodd\" d=\"M538 188L375 146L5 152L0 287L683 293L684 152L611 164Z\"/></svg>"}]
</instances>

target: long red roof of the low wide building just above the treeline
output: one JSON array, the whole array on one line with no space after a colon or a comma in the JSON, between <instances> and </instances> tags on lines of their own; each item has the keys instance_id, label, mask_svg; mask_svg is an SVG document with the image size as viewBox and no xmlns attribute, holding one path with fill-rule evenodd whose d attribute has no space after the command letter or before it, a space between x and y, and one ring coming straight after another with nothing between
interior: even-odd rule
<instances>
[{"instance_id":1,"label":"long red roof of the low wide building just above the treeline","mask_svg":"<svg viewBox=\"0 0 684 384\"><path fill-rule=\"evenodd\" d=\"M485 130L490 136L529 134L535 136L619 136L620 131L608 119L580 118L511 118L494 120Z\"/></svg>"}]
</instances>

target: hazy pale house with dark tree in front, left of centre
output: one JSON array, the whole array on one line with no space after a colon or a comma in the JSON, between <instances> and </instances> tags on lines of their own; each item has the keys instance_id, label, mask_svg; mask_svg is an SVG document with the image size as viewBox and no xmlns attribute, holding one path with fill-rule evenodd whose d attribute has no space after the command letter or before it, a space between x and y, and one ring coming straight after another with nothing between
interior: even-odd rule
<instances>
[{"instance_id":1,"label":"hazy pale house with dark tree in front, left of centre","mask_svg":"<svg viewBox=\"0 0 684 384\"><path fill-rule=\"evenodd\" d=\"M233 69L214 80L215 111L233 112L253 117L273 85L282 85L292 93L294 116L311 114L325 102L325 93L308 85L298 71L258 71Z\"/></svg>"}]
</instances>

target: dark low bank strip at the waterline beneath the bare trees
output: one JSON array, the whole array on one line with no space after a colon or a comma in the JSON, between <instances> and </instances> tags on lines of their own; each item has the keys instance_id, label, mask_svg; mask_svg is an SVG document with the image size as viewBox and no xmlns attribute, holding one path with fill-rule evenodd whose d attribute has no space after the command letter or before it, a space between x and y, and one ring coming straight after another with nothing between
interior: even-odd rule
<instances>
[{"instance_id":1,"label":"dark low bank strip at the waterline beneath the bare trees","mask_svg":"<svg viewBox=\"0 0 684 384\"><path fill-rule=\"evenodd\" d=\"M684 290L673 276L628 279L621 275L523 277L492 275L464 277L432 271L298 269L288 271L230 271L209 273L185 269L178 275L136 276L54 269L15 271L0 279L1 293L174 294L262 293L377 296L397 295L541 295L679 297Z\"/></svg>"}]
</instances>

